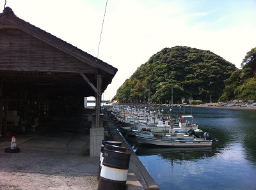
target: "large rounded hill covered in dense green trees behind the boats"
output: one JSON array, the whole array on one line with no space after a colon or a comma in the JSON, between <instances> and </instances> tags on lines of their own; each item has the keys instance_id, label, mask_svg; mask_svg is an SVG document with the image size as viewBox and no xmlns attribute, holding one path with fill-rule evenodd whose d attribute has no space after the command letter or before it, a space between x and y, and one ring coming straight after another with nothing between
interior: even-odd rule
<instances>
[{"instance_id":1,"label":"large rounded hill covered in dense green trees behind the boats","mask_svg":"<svg viewBox=\"0 0 256 190\"><path fill-rule=\"evenodd\" d=\"M120 102L181 103L181 98L218 101L224 80L236 66L222 57L191 47L163 48L125 80L114 99ZM173 97L173 98L172 98ZM188 101L187 101L188 102Z\"/></svg>"}]
</instances>

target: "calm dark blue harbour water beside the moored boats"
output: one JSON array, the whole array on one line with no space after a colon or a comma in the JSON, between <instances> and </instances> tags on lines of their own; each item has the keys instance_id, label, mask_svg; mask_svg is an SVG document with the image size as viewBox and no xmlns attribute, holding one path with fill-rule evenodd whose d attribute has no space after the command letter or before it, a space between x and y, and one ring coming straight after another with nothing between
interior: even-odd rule
<instances>
[{"instance_id":1,"label":"calm dark blue harbour water beside the moored boats","mask_svg":"<svg viewBox=\"0 0 256 190\"><path fill-rule=\"evenodd\" d=\"M160 189L256 189L256 112L186 108L219 140L212 149L141 147L127 139Z\"/></svg>"}]
</instances>

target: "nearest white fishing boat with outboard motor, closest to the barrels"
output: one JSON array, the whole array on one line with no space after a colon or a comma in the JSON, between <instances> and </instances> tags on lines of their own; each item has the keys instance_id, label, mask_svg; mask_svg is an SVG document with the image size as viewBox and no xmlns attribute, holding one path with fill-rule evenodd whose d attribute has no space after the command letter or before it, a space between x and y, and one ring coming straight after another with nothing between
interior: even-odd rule
<instances>
[{"instance_id":1,"label":"nearest white fishing boat with outboard motor, closest to the barrels","mask_svg":"<svg viewBox=\"0 0 256 190\"><path fill-rule=\"evenodd\" d=\"M136 140L140 144L159 145L166 147L211 147L212 142L217 142L207 132L204 133L204 138L197 138L195 135L184 135L178 133L173 135L145 135L135 133Z\"/></svg>"}]
</instances>

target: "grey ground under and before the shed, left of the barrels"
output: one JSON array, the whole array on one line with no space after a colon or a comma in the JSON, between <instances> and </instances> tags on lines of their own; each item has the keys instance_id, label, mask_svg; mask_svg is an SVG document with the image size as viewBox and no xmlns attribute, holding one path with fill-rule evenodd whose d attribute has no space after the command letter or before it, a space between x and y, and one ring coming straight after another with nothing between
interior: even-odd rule
<instances>
[{"instance_id":1,"label":"grey ground under and before the shed, left of the barrels","mask_svg":"<svg viewBox=\"0 0 256 190\"><path fill-rule=\"evenodd\" d=\"M44 133L17 135L19 153L6 153L12 138L1 138L0 189L97 189L99 157L89 156L83 125L65 121Z\"/></svg>"}]
</instances>

